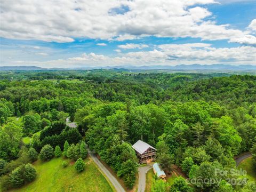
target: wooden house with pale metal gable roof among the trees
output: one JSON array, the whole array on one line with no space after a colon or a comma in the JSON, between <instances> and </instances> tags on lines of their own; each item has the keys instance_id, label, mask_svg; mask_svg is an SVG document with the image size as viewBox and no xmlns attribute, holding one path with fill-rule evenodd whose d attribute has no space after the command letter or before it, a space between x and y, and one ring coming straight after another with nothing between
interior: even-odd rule
<instances>
[{"instance_id":1,"label":"wooden house with pale metal gable roof among the trees","mask_svg":"<svg viewBox=\"0 0 256 192\"><path fill-rule=\"evenodd\" d=\"M156 158L156 149L148 143L138 140L132 148L135 150L140 163L150 163Z\"/></svg>"}]
</instances>

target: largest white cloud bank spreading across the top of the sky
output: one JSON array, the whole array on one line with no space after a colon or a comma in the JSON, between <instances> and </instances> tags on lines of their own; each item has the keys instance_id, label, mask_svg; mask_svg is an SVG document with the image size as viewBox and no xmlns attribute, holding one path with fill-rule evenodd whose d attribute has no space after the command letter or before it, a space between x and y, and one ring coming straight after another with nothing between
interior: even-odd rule
<instances>
[{"instance_id":1,"label":"largest white cloud bank spreading across the top of the sky","mask_svg":"<svg viewBox=\"0 0 256 192\"><path fill-rule=\"evenodd\" d=\"M247 34L212 21L212 13L201 6L212 3L216 1L2 1L0 36L62 43L75 38L124 41L151 35L215 40ZM127 11L109 13L122 6Z\"/></svg>"}]
</instances>

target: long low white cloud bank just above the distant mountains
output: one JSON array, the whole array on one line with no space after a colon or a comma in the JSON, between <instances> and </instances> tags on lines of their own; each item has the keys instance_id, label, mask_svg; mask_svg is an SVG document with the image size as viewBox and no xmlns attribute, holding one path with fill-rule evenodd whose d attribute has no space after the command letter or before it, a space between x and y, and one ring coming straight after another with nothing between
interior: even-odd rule
<instances>
[{"instance_id":1,"label":"long low white cloud bank just above the distant mountains","mask_svg":"<svg viewBox=\"0 0 256 192\"><path fill-rule=\"evenodd\" d=\"M122 65L180 65L214 64L256 65L256 47L240 46L215 48L210 44L164 44L157 45L153 51L119 53L118 57L95 53L83 53L81 57L50 61L19 61L20 64L41 67L85 67L85 66L122 66ZM17 63L17 62L16 62ZM13 62L13 65L15 63Z\"/></svg>"}]
</instances>

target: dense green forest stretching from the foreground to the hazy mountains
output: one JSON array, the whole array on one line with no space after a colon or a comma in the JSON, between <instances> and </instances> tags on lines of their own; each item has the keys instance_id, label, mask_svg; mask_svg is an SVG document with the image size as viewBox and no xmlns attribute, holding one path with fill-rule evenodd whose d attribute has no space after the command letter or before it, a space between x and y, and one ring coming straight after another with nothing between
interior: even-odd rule
<instances>
[{"instance_id":1,"label":"dense green forest stretching from the foreground to the hazy mountains","mask_svg":"<svg viewBox=\"0 0 256 192\"><path fill-rule=\"evenodd\" d=\"M143 140L164 170L177 165L190 181L215 179L180 177L171 188L156 181L152 191L256 191L239 173L229 178L241 185L215 174L231 174L234 156L247 151L256 164L256 76L101 69L5 71L0 79L3 190L33 180L26 175L36 154L50 159L55 149L76 161L85 145L132 188L139 164L131 146ZM78 126L67 126L68 117Z\"/></svg>"}]
</instances>

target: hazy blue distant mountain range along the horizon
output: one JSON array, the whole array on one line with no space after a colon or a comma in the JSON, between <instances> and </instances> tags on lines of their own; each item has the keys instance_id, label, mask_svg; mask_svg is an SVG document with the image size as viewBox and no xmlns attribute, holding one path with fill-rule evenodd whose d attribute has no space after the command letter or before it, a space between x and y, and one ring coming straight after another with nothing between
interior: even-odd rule
<instances>
[{"instance_id":1,"label":"hazy blue distant mountain range along the horizon","mask_svg":"<svg viewBox=\"0 0 256 192\"><path fill-rule=\"evenodd\" d=\"M256 66L252 65L223 65L223 64L214 64L214 65L177 65L177 66L107 66L107 67L83 67L83 68L41 68L36 66L3 66L0 67L0 70L89 70L89 69L137 69L137 70L223 70L223 71L247 71L247 70L256 70Z\"/></svg>"}]
</instances>

